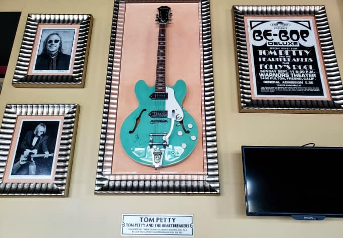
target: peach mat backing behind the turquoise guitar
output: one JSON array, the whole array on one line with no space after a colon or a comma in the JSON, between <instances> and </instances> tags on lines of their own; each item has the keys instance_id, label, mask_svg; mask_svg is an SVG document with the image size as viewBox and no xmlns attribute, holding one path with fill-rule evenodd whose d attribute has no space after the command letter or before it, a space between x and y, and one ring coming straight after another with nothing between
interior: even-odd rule
<instances>
[{"instance_id":1,"label":"peach mat backing behind the turquoise guitar","mask_svg":"<svg viewBox=\"0 0 343 238\"><path fill-rule=\"evenodd\" d=\"M179 79L186 82L187 94L183 106L196 120L199 134L198 143L186 160L175 166L154 170L132 160L125 153L119 135L124 120L138 106L134 94L136 82L142 79L149 86L155 82L158 40L155 15L162 5L169 6L173 13L173 20L166 27L166 84L173 86ZM205 133L198 3L126 4L125 8L111 174L203 174L206 170L206 149L203 148ZM111 95L111 100L116 96Z\"/></svg>"}]
</instances>

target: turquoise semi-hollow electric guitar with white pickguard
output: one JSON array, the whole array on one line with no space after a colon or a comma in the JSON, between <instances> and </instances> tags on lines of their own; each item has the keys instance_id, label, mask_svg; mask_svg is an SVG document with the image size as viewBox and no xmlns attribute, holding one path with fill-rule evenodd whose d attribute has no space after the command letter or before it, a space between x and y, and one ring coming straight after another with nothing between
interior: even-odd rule
<instances>
[{"instance_id":1,"label":"turquoise semi-hollow electric guitar with white pickguard","mask_svg":"<svg viewBox=\"0 0 343 238\"><path fill-rule=\"evenodd\" d=\"M165 28L171 18L170 8L158 8L159 24L155 86L143 80L136 83L138 108L124 121L120 137L128 155L138 163L158 169L183 161L198 140L198 127L183 109L186 84L179 80L174 87L165 85Z\"/></svg>"}]
</instances>

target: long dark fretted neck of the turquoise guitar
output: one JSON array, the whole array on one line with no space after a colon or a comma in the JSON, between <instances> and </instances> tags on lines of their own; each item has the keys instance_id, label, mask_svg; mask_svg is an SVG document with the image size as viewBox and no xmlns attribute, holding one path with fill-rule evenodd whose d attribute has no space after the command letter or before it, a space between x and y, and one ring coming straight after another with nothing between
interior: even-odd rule
<instances>
[{"instance_id":1,"label":"long dark fretted neck of the turquoise guitar","mask_svg":"<svg viewBox=\"0 0 343 238\"><path fill-rule=\"evenodd\" d=\"M166 23L159 24L155 93L165 93L165 28Z\"/></svg>"}]
</instances>

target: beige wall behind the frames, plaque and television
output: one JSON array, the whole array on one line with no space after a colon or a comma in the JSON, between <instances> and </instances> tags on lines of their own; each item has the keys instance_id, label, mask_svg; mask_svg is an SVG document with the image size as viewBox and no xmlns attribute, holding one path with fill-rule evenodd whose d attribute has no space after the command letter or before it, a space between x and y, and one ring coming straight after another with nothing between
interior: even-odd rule
<instances>
[{"instance_id":1,"label":"beige wall behind the frames, plaque and television","mask_svg":"<svg viewBox=\"0 0 343 238\"><path fill-rule=\"evenodd\" d=\"M119 237L122 213L194 214L195 237L343 237L341 218L320 222L245 215L241 145L343 146L342 115L239 113L233 5L325 4L340 72L342 0L212 0L211 22L220 175L219 196L94 195L113 0L0 0L21 11L0 114L6 103L81 106L68 198L1 197L0 237ZM89 13L94 17L84 89L16 89L11 85L29 13ZM2 116L1 116L2 117Z\"/></svg>"}]
</instances>

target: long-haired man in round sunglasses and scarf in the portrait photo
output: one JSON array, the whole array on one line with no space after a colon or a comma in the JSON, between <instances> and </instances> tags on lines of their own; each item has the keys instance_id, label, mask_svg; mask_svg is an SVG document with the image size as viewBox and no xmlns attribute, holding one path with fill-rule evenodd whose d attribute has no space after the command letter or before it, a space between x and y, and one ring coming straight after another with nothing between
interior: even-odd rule
<instances>
[{"instance_id":1,"label":"long-haired man in round sunglasses and scarf in the portrait photo","mask_svg":"<svg viewBox=\"0 0 343 238\"><path fill-rule=\"evenodd\" d=\"M58 33L44 40L43 52L37 56L35 70L68 70L70 55L63 53L62 39Z\"/></svg>"}]
</instances>

